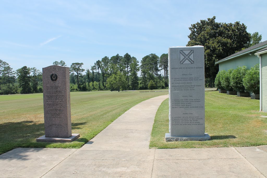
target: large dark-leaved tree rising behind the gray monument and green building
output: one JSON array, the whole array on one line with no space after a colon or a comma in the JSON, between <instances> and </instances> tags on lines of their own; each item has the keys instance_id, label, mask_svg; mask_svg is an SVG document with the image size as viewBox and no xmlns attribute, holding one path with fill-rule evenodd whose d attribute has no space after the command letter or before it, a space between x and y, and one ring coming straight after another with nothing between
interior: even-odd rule
<instances>
[{"instance_id":1,"label":"large dark-leaved tree rising behind the gray monument and green building","mask_svg":"<svg viewBox=\"0 0 267 178\"><path fill-rule=\"evenodd\" d=\"M215 22L215 16L200 20L189 27L187 46L202 45L205 48L205 78L209 78L209 86L214 85L218 73L215 62L234 54L246 47L251 35L246 31L244 23Z\"/></svg>"}]
</instances>

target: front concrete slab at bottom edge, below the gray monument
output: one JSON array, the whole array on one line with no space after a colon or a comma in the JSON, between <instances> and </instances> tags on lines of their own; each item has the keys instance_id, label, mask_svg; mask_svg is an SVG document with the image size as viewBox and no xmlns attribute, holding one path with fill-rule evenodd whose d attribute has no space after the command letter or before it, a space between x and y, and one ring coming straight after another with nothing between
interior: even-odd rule
<instances>
[{"instance_id":1,"label":"front concrete slab at bottom edge, below the gray monument","mask_svg":"<svg viewBox=\"0 0 267 178\"><path fill-rule=\"evenodd\" d=\"M152 177L261 177L246 159L154 160Z\"/></svg>"}]
</instances>

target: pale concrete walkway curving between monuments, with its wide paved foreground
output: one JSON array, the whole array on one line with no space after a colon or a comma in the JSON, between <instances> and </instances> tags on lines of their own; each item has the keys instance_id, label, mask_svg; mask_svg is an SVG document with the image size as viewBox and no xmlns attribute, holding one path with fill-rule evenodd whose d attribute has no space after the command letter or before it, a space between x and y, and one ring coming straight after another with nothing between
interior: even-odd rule
<instances>
[{"instance_id":1,"label":"pale concrete walkway curving between monuments, with its wide paved foreground","mask_svg":"<svg viewBox=\"0 0 267 178\"><path fill-rule=\"evenodd\" d=\"M129 109L80 149L17 148L0 155L0 177L266 177L267 146L149 149L168 95Z\"/></svg>"}]
</instances>

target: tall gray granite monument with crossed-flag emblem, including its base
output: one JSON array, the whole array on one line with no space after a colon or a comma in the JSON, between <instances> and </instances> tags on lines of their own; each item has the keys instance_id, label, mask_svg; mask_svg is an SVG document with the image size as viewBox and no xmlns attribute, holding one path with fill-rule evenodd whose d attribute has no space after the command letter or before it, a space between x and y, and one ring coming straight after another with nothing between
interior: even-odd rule
<instances>
[{"instance_id":1,"label":"tall gray granite monument with crossed-flag emblem, including its base","mask_svg":"<svg viewBox=\"0 0 267 178\"><path fill-rule=\"evenodd\" d=\"M166 141L209 140L205 133L204 47L170 47Z\"/></svg>"}]
</instances>

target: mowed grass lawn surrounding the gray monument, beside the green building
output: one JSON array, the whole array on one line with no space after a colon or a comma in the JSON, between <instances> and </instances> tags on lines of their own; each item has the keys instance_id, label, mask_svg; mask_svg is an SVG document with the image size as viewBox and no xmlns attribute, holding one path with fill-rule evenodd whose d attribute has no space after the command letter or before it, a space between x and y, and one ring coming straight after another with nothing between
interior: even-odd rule
<instances>
[{"instance_id":1,"label":"mowed grass lawn surrounding the gray monument, beside the green building","mask_svg":"<svg viewBox=\"0 0 267 178\"><path fill-rule=\"evenodd\" d=\"M160 105L153 125L150 148L246 147L267 145L267 113L259 112L260 101L205 92L205 132L208 141L166 142L169 132L168 99Z\"/></svg>"}]
</instances>

